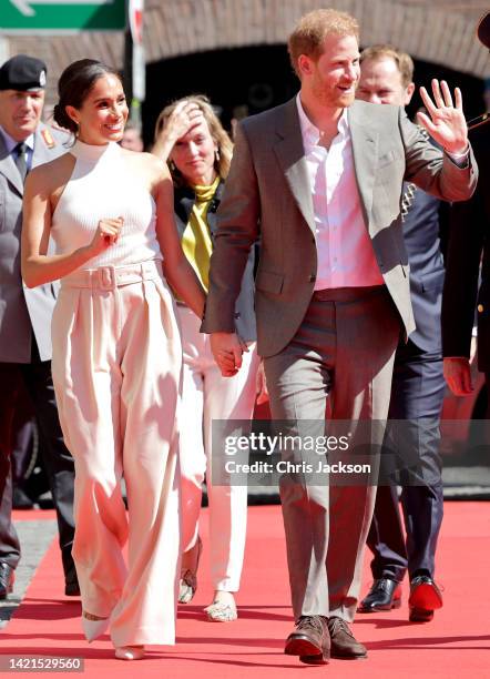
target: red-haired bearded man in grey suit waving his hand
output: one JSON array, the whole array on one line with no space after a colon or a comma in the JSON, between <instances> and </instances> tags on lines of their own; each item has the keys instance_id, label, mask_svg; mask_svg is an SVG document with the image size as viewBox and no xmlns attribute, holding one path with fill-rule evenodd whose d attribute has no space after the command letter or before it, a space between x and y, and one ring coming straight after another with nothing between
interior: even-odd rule
<instances>
[{"instance_id":1,"label":"red-haired bearded man in grey suit waving his hand","mask_svg":"<svg viewBox=\"0 0 490 679\"><path fill-rule=\"evenodd\" d=\"M238 369L234 301L248 250L259 239L258 353L273 418L286 422L288 434L325 430L330 394L331 418L346 423L354 444L366 443L358 433L370 428L368 443L376 448L384 426L370 423L386 420L399 334L415 326L402 182L449 200L471 195L476 168L461 94L457 90L453 105L446 83L433 82L435 103L422 91L429 112L422 122L441 152L402 109L354 102L358 26L349 14L306 14L288 48L299 94L237 126L202 330L212 333L222 373ZM300 465L318 455L287 455L299 473L280 479L296 619L285 652L310 663L326 662L330 646L331 657L366 657L348 622L359 596L375 480L366 474L340 485L333 474L317 474L308 484Z\"/></svg>"}]
</instances>

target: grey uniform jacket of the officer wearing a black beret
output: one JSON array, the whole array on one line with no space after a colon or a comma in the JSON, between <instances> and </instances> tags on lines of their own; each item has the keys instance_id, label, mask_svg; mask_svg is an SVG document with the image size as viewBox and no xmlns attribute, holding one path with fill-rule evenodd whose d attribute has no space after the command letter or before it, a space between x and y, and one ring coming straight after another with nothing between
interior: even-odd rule
<instances>
[{"instance_id":1,"label":"grey uniform jacket of the officer wearing a black beret","mask_svg":"<svg viewBox=\"0 0 490 679\"><path fill-rule=\"evenodd\" d=\"M63 132L41 123L34 135L32 166L67 153L63 145L67 139ZM22 196L19 171L0 133L0 362L3 363L30 363L32 332L41 359L51 358L51 315L57 285L48 283L29 290L22 283Z\"/></svg>"}]
</instances>

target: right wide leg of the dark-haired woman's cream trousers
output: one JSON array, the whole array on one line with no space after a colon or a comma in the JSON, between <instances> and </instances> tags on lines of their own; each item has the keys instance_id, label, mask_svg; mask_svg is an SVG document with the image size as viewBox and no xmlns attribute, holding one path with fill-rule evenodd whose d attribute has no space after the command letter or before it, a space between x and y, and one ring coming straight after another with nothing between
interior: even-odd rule
<instances>
[{"instance_id":1,"label":"right wide leg of the dark-haired woman's cream trousers","mask_svg":"<svg viewBox=\"0 0 490 679\"><path fill-rule=\"evenodd\" d=\"M135 288L134 291L132 288ZM121 430L129 572L111 618L114 646L174 643L181 555L176 408L182 346L161 280L120 288Z\"/></svg>"}]
</instances>

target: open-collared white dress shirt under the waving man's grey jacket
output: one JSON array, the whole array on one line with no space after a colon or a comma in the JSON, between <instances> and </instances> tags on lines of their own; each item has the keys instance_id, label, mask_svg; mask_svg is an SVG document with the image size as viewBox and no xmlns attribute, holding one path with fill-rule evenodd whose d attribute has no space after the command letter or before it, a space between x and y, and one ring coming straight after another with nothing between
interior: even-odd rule
<instances>
[{"instance_id":1,"label":"open-collared white dress shirt under the waving man's grey jacket","mask_svg":"<svg viewBox=\"0 0 490 679\"><path fill-rule=\"evenodd\" d=\"M296 98L312 189L318 268L315 290L382 285L357 188L347 109L330 148Z\"/></svg>"}]
</instances>

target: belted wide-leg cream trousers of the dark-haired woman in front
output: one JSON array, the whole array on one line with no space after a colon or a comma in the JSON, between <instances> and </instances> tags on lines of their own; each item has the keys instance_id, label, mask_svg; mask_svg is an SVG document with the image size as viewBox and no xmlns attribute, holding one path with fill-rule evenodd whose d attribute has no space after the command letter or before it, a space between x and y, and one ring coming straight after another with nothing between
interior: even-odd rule
<instances>
[{"instance_id":1,"label":"belted wide-leg cream trousers of the dark-haired woman in front","mask_svg":"<svg viewBox=\"0 0 490 679\"><path fill-rule=\"evenodd\" d=\"M160 263L63 278L52 337L60 420L75 462L83 610L110 617L115 647L174 643L182 347Z\"/></svg>"}]
</instances>

